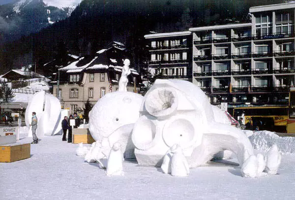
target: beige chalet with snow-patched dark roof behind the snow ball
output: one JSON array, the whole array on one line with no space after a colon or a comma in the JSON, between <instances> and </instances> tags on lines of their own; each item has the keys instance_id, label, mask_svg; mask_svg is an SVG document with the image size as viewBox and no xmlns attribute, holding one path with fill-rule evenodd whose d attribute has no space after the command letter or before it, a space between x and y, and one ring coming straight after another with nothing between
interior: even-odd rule
<instances>
[{"instance_id":1,"label":"beige chalet with snow-patched dark roof behind the snow ball","mask_svg":"<svg viewBox=\"0 0 295 200\"><path fill-rule=\"evenodd\" d=\"M106 93L118 90L123 60L126 58L130 59L122 46L117 45L102 49L94 56L80 57L59 69L59 93L57 82L53 83L53 93L55 96L59 95L64 108L68 108L70 113L82 113L84 103L88 99L94 105ZM132 68L132 64L130 69L127 90L139 92L141 77Z\"/></svg>"}]
</instances>

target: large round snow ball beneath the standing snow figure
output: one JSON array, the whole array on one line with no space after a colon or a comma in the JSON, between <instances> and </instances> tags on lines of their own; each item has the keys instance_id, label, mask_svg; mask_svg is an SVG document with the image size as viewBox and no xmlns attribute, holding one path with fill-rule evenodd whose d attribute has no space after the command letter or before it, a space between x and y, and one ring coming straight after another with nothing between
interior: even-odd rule
<instances>
[{"instance_id":1,"label":"large round snow ball beneath the standing snow figure","mask_svg":"<svg viewBox=\"0 0 295 200\"><path fill-rule=\"evenodd\" d=\"M135 158L131 132L139 118L143 96L133 92L112 92L103 96L89 113L89 131L109 156L114 143L121 144L125 158ZM98 160L99 157L96 157Z\"/></svg>"}]
</instances>

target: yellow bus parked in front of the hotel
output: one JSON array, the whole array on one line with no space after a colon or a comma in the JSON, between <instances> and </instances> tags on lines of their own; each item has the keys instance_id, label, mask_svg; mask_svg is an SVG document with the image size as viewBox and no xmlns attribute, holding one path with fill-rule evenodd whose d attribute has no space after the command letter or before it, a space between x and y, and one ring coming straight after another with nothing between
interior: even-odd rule
<instances>
[{"instance_id":1,"label":"yellow bus parked in front of the hotel","mask_svg":"<svg viewBox=\"0 0 295 200\"><path fill-rule=\"evenodd\" d=\"M234 108L233 116L235 119L243 116L248 130L255 130L258 126L259 130L286 133L288 110L288 106L239 107Z\"/></svg>"}]
</instances>

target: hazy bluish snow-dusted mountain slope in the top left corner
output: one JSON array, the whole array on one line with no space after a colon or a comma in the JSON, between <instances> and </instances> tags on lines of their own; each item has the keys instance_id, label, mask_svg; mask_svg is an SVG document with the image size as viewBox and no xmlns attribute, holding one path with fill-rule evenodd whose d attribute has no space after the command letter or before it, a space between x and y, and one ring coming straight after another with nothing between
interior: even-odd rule
<instances>
[{"instance_id":1,"label":"hazy bluish snow-dusted mountain slope in the top left corner","mask_svg":"<svg viewBox=\"0 0 295 200\"><path fill-rule=\"evenodd\" d=\"M0 32L3 33L4 41L38 32L69 17L81 1L17 0L0 5Z\"/></svg>"}]
</instances>

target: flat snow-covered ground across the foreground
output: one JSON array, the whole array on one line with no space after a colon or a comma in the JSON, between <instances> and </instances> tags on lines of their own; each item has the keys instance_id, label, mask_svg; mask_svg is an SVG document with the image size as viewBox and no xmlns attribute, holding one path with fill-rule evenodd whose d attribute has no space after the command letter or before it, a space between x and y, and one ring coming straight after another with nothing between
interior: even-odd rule
<instances>
[{"instance_id":1,"label":"flat snow-covered ground across the foreground","mask_svg":"<svg viewBox=\"0 0 295 200\"><path fill-rule=\"evenodd\" d=\"M23 128L22 132L26 129ZM236 159L191 169L188 177L124 161L124 176L106 176L96 163L76 156L78 144L62 136L31 144L31 157L0 163L1 200L291 200L295 198L295 154L282 156L277 175L241 177ZM18 143L31 138L21 134ZM295 139L295 138L294 138ZM294 140L290 139L290 140ZM257 150L258 152L258 150Z\"/></svg>"}]
</instances>

